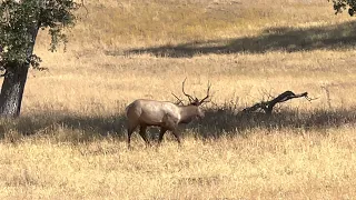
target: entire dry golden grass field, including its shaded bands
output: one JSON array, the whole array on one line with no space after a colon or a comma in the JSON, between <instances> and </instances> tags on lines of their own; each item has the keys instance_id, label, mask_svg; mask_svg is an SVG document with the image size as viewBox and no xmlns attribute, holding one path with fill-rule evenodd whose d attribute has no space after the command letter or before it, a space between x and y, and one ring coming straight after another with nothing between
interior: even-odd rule
<instances>
[{"instance_id":1,"label":"entire dry golden grass field, including its shaded bands","mask_svg":"<svg viewBox=\"0 0 356 200\"><path fill-rule=\"evenodd\" d=\"M46 31L22 116L0 120L0 199L354 199L355 28L327 0L86 0L67 51ZM206 118L126 146L135 99L198 98ZM270 117L243 114L307 91ZM149 131L155 137L157 129Z\"/></svg>"}]
</instances>

